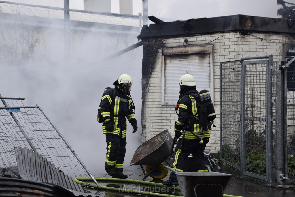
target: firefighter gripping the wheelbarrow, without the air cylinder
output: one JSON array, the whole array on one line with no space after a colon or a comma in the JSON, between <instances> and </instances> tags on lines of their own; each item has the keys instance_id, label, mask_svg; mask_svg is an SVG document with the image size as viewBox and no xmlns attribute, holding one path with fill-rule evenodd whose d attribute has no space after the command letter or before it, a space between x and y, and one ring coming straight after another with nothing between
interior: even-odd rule
<instances>
[{"instance_id":1,"label":"firefighter gripping the wheelbarrow, without the air cylinder","mask_svg":"<svg viewBox=\"0 0 295 197\"><path fill-rule=\"evenodd\" d=\"M175 147L173 169L183 172L184 161L190 154L198 172L208 172L207 161L204 157L206 144L209 142L210 133L200 133L198 119L198 101L193 95L199 94L196 90L196 82L193 76L185 74L179 79L179 113L174 130L178 142ZM196 115L196 116L195 116ZM183 132L182 132L183 131ZM200 143L201 140L203 143ZM178 185L176 174L170 173L168 180L163 181L164 185Z\"/></svg>"}]
</instances>

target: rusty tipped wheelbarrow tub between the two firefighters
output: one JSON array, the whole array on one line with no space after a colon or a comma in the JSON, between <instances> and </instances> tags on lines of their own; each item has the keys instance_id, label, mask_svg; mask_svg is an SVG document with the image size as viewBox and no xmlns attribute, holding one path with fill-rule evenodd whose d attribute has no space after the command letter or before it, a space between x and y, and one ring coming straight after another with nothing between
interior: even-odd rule
<instances>
[{"instance_id":1,"label":"rusty tipped wheelbarrow tub between the two firefighters","mask_svg":"<svg viewBox=\"0 0 295 197\"><path fill-rule=\"evenodd\" d=\"M171 154L173 138L168 129L157 134L135 151L130 165L159 165Z\"/></svg>"}]
</instances>

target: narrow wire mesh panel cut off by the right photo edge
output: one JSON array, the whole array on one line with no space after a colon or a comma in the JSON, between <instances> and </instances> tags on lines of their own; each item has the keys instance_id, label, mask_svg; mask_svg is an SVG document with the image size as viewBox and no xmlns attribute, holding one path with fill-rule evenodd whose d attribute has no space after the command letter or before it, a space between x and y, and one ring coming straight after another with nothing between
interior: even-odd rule
<instances>
[{"instance_id":1,"label":"narrow wire mesh panel cut off by the right photo edge","mask_svg":"<svg viewBox=\"0 0 295 197\"><path fill-rule=\"evenodd\" d=\"M287 68L287 166L288 177L295 178L295 63Z\"/></svg>"}]
</instances>

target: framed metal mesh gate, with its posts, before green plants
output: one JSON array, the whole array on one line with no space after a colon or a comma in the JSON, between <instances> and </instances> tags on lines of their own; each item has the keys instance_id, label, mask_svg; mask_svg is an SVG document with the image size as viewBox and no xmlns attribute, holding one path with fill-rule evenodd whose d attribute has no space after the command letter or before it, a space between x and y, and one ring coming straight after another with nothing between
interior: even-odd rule
<instances>
[{"instance_id":1,"label":"framed metal mesh gate, with its posts, before green plants","mask_svg":"<svg viewBox=\"0 0 295 197\"><path fill-rule=\"evenodd\" d=\"M244 174L267 180L268 125L268 61L242 62L242 155ZM242 121L242 122L243 122ZM268 130L268 131L266 131Z\"/></svg>"}]
</instances>

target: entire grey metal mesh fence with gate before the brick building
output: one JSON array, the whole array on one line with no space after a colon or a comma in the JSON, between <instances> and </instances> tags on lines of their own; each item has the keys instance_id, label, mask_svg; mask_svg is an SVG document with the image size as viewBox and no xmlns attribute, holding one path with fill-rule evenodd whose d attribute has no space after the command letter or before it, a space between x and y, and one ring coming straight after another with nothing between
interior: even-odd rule
<instances>
[{"instance_id":1,"label":"entire grey metal mesh fence with gate before the brick building","mask_svg":"<svg viewBox=\"0 0 295 197\"><path fill-rule=\"evenodd\" d=\"M286 87L295 90L295 66L272 55L220 63L221 160L276 185L295 174L295 94Z\"/></svg>"}]
</instances>

